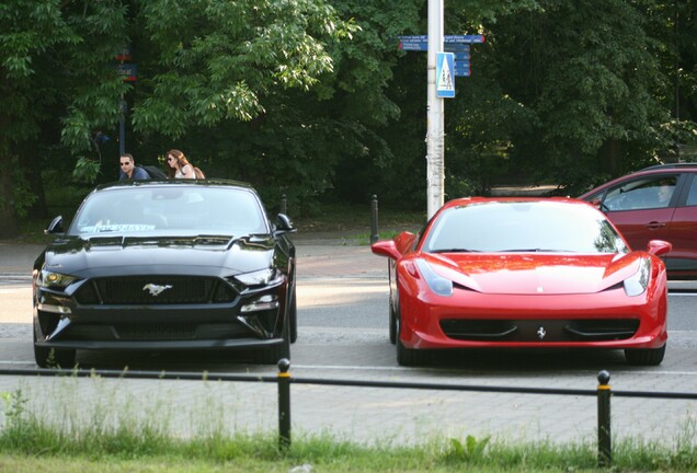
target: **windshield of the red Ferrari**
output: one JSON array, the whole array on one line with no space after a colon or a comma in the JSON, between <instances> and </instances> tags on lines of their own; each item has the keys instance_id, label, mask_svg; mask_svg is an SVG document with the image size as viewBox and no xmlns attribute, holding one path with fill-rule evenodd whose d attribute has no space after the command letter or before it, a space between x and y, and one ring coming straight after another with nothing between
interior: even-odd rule
<instances>
[{"instance_id":1,"label":"windshield of the red Ferrari","mask_svg":"<svg viewBox=\"0 0 697 473\"><path fill-rule=\"evenodd\" d=\"M423 246L427 252L627 253L603 214L563 201L493 201L446 209Z\"/></svg>"}]
</instances>

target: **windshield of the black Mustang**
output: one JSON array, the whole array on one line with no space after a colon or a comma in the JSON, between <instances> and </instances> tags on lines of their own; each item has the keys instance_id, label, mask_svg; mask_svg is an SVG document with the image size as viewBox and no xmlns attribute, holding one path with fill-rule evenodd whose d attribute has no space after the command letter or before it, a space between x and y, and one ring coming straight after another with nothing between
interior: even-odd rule
<instances>
[{"instance_id":1,"label":"windshield of the black Mustang","mask_svg":"<svg viewBox=\"0 0 697 473\"><path fill-rule=\"evenodd\" d=\"M71 235L267 233L256 195L215 186L114 187L88 196L68 230Z\"/></svg>"}]
</instances>

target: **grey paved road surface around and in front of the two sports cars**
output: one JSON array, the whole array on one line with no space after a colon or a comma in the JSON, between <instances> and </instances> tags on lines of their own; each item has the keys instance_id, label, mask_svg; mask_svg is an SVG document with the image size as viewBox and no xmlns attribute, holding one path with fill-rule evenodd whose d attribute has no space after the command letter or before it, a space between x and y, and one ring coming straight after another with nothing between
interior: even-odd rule
<instances>
[{"instance_id":1,"label":"grey paved road surface around and in front of the two sports cars","mask_svg":"<svg viewBox=\"0 0 697 473\"><path fill-rule=\"evenodd\" d=\"M618 351L485 351L449 354L424 367L402 368L387 337L385 259L367 246L336 240L297 243L299 337L292 348L294 378L594 390L597 372L605 369L614 390L697 393L695 296L670 298L670 345L660 367L629 367ZM37 250L0 244L0 368L34 367L27 267ZM235 353L80 353L78 361L84 368L275 373L274 367L251 365ZM212 418L210 412L202 413L205 409L214 411L213 417L230 430L273 430L277 425L277 393L270 383L73 380L66 388L66 381L55 379L0 377L0 391L18 387L44 411L60 399L57 416L73 412L67 405L76 402L75 412L84 411L89 417L98 407L87 406L105 399L102 391L108 391L110 404L117 409L126 408L122 404L146 411L152 404L167 405L161 408L169 409L167 418L181 435L196 430L193 418ZM674 443L687 431L695 441L695 401L616 397L613 434ZM295 435L331 431L367 442L466 435L594 441L596 404L594 397L580 395L298 384L293 387L293 426Z\"/></svg>"}]
</instances>

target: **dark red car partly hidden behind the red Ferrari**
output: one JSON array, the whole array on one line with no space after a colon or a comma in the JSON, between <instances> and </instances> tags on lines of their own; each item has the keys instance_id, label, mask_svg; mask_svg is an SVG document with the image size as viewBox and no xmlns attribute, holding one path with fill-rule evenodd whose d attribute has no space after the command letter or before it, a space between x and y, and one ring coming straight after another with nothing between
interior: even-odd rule
<instances>
[{"instance_id":1,"label":"dark red car partly hidden behind the red Ferrari","mask_svg":"<svg viewBox=\"0 0 697 473\"><path fill-rule=\"evenodd\" d=\"M671 242L670 279L697 278L697 163L647 168L579 198L603 210L633 249L654 239Z\"/></svg>"}]
</instances>

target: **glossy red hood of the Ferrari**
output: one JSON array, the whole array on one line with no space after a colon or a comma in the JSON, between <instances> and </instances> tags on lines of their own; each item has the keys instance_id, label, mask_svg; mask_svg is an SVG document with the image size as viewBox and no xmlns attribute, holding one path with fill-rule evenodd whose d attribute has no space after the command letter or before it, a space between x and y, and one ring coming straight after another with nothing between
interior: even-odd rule
<instances>
[{"instance_id":1,"label":"glossy red hood of the Ferrari","mask_svg":"<svg viewBox=\"0 0 697 473\"><path fill-rule=\"evenodd\" d=\"M434 270L484 293L593 293L632 276L641 255L430 254Z\"/></svg>"}]
</instances>

